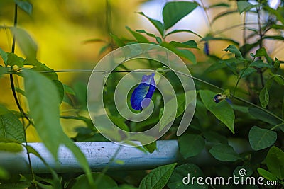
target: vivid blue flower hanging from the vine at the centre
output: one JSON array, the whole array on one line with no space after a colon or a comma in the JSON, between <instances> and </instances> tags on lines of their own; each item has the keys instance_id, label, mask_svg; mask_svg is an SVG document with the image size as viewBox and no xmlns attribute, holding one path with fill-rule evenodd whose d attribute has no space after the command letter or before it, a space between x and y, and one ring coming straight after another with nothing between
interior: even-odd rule
<instances>
[{"instance_id":1,"label":"vivid blue flower hanging from the vine at the centre","mask_svg":"<svg viewBox=\"0 0 284 189\"><path fill-rule=\"evenodd\" d=\"M146 108L151 101L153 93L155 91L155 73L151 75L143 75L141 83L134 89L130 103L134 110L142 110Z\"/></svg>"}]
</instances>

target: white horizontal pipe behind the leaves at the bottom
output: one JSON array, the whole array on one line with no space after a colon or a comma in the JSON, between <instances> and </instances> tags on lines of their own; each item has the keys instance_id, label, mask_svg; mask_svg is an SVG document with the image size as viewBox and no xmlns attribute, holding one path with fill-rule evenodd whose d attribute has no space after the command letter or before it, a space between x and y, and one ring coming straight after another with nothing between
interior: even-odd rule
<instances>
[{"instance_id":1,"label":"white horizontal pipe behind the leaves at the bottom","mask_svg":"<svg viewBox=\"0 0 284 189\"><path fill-rule=\"evenodd\" d=\"M157 149L152 154L145 153L136 147L121 146L116 160L124 162L124 164L117 164L115 161L109 164L116 149L119 148L118 144L113 142L75 142L75 144L86 156L92 171L100 171L106 166L109 166L110 170L151 169L178 161L178 141L176 140L157 141ZM40 156L56 172L82 172L82 168L72 152L65 146L59 148L59 162L55 162L53 156L42 143L29 143L28 145L38 151ZM35 173L50 173L43 161L33 154L31 154L31 165ZM25 150L18 153L0 151L0 166L13 173L30 172Z\"/></svg>"}]
</instances>

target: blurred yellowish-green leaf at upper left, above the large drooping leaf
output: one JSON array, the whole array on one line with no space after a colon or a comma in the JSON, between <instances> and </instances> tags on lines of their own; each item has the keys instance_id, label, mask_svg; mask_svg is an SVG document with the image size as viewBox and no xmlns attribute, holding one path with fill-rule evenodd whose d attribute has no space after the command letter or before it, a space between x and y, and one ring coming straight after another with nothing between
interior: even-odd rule
<instances>
[{"instance_id":1,"label":"blurred yellowish-green leaf at upper left, above the large drooping leaf","mask_svg":"<svg viewBox=\"0 0 284 189\"><path fill-rule=\"evenodd\" d=\"M38 46L35 44L30 35L21 28L11 28L11 32L16 36L16 41L18 46L21 48L22 52L26 57L31 59L36 59L36 52Z\"/></svg>"}]
</instances>

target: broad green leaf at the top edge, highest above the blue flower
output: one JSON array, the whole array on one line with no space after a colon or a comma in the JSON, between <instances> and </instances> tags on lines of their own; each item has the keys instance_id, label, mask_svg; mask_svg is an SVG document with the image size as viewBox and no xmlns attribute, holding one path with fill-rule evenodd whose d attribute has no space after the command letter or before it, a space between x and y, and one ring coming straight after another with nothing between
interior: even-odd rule
<instances>
[{"instance_id":1,"label":"broad green leaf at the top edge, highest above the blue flower","mask_svg":"<svg viewBox=\"0 0 284 189\"><path fill-rule=\"evenodd\" d=\"M165 30L172 27L187 14L197 8L197 3L189 1L170 1L163 8L163 21Z\"/></svg>"}]
</instances>

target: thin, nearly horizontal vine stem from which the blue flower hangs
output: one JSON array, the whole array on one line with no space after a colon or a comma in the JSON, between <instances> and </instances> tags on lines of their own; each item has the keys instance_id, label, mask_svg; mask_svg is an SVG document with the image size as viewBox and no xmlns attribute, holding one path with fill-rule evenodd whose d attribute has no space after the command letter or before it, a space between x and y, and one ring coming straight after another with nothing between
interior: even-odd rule
<instances>
[{"instance_id":1,"label":"thin, nearly horizontal vine stem from which the blue flower hangs","mask_svg":"<svg viewBox=\"0 0 284 189\"><path fill-rule=\"evenodd\" d=\"M92 69L66 69L66 70L47 70L47 71L39 71L40 73L58 73L58 72L61 72L61 73L64 73L64 72L97 72L97 73L102 73L102 74L106 74L106 73L109 73L110 71L105 71L105 70L92 70ZM183 76L187 76L187 77L191 77L192 79L194 79L195 81L200 81L202 82L203 84L207 84L208 86L212 86L214 88L217 88L219 91L222 91L224 92L225 89L224 88L221 88L219 86L216 86L214 84L210 84L209 82L207 81L204 81L202 79L199 79L195 76L191 76L189 74L185 74L185 73L182 73L180 71L177 71L177 70L173 70L173 69L164 69L164 70L114 70L114 71L111 71L111 72L114 72L114 73L129 73L129 72L144 72L144 73L147 73L147 72L153 72L153 71L157 71L157 72L163 72L163 71L174 71L175 73L178 73L178 74L181 74ZM231 96L233 96L233 94L231 94ZM241 101L243 103L246 103L246 104L249 104L251 106L253 106L254 108L258 108L259 110L262 110L263 112L265 113L268 113L269 115L272 115L274 118L280 120L281 122L284 122L284 119L278 117L278 115L275 115L274 113L271 113L270 111L264 109L264 108L261 108L260 106L254 104L254 103L251 103L249 101L246 101L245 99L243 98L240 98L240 97L237 97L237 96L234 96L234 98L238 101Z\"/></svg>"}]
</instances>

